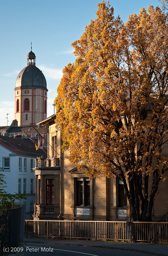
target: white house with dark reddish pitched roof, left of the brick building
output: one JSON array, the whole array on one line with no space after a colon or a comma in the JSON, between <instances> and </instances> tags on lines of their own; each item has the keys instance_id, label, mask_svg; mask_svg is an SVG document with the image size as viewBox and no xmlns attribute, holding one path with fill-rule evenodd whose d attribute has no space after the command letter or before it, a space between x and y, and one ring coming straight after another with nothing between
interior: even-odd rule
<instances>
[{"instance_id":1,"label":"white house with dark reddish pitched roof, left of the brick building","mask_svg":"<svg viewBox=\"0 0 168 256\"><path fill-rule=\"evenodd\" d=\"M29 152L34 151L34 152ZM41 152L39 149L38 151ZM3 167L7 191L26 193L27 199L17 201L26 204L26 212L34 212L35 204L35 158L38 154L32 142L0 136L0 167ZM41 154L40 154L41 155ZM44 152L43 152L44 155Z\"/></svg>"}]
</instances>

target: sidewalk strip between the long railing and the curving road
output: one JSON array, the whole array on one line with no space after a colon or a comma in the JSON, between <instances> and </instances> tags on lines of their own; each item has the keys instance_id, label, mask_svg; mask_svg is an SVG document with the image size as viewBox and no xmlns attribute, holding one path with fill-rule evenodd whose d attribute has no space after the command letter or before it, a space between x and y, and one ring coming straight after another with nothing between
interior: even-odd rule
<instances>
[{"instance_id":1,"label":"sidewalk strip between the long railing and the curving road","mask_svg":"<svg viewBox=\"0 0 168 256\"><path fill-rule=\"evenodd\" d=\"M149 253L153 255L168 256L168 245L165 244L145 244L145 243L129 243L129 242L107 242L107 241L90 241L80 239L44 239L39 237L25 237L25 244L28 243L42 243L42 244L56 244L56 245L78 245L88 247L107 248L124 251L135 251Z\"/></svg>"}]
</instances>

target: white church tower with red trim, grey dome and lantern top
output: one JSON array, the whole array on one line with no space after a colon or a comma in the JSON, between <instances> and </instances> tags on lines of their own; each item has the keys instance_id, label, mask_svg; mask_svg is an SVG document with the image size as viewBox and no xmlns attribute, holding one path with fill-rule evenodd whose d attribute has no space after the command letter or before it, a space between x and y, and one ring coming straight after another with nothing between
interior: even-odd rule
<instances>
[{"instance_id":1,"label":"white church tower with red trim, grey dome and lantern top","mask_svg":"<svg viewBox=\"0 0 168 256\"><path fill-rule=\"evenodd\" d=\"M35 54L27 55L27 66L19 73L15 87L15 119L18 126L29 126L47 118L47 84L35 66Z\"/></svg>"}]
</instances>

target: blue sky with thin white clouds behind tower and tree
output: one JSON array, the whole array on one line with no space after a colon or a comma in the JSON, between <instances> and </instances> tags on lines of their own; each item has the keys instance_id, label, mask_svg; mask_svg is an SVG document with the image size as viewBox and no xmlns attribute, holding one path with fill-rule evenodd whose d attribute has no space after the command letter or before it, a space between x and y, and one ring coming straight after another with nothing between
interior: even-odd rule
<instances>
[{"instance_id":1,"label":"blue sky with thin white clouds behind tower and tree","mask_svg":"<svg viewBox=\"0 0 168 256\"><path fill-rule=\"evenodd\" d=\"M27 65L27 54L36 55L48 89L47 117L53 114L62 70L75 61L71 43L80 39L85 26L96 18L98 0L1 0L0 1L0 126L14 119L14 88L19 72ZM158 0L110 0L115 17L127 22L128 16Z\"/></svg>"}]
</instances>

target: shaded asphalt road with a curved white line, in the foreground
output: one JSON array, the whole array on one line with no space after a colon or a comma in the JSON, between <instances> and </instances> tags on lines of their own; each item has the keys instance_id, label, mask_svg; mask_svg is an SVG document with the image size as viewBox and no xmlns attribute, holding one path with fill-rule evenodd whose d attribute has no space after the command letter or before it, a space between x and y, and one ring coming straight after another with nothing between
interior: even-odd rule
<instances>
[{"instance_id":1,"label":"shaded asphalt road with a curved white line, in the foreground","mask_svg":"<svg viewBox=\"0 0 168 256\"><path fill-rule=\"evenodd\" d=\"M151 256L151 254L133 251L120 251L104 248L92 248L74 245L48 245L26 243L24 256Z\"/></svg>"}]
</instances>

